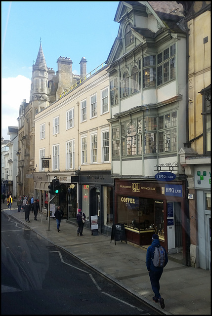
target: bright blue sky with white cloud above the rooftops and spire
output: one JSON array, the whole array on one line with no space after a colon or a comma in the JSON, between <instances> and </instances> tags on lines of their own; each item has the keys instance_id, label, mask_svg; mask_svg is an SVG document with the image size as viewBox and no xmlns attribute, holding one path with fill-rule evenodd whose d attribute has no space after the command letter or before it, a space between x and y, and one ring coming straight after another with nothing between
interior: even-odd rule
<instances>
[{"instance_id":1,"label":"bright blue sky with white cloud above the rooftops and spire","mask_svg":"<svg viewBox=\"0 0 212 316\"><path fill-rule=\"evenodd\" d=\"M57 71L57 59L70 57L80 74L104 63L118 35L114 22L119 1L1 1L1 137L18 126L19 105L29 102L32 65L40 41L46 66Z\"/></svg>"}]
</instances>

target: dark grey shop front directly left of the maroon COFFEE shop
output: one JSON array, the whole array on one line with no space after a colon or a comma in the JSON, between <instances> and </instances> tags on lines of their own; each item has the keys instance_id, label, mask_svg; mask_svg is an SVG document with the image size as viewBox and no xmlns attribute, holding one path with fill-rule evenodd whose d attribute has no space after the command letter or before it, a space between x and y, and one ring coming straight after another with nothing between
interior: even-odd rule
<instances>
[{"instance_id":1,"label":"dark grey shop front directly left of the maroon COFFEE shop","mask_svg":"<svg viewBox=\"0 0 212 316\"><path fill-rule=\"evenodd\" d=\"M111 171L80 173L80 208L86 215L85 227L91 228L91 216L97 216L98 233L111 235L114 224L114 180Z\"/></svg>"}]
</instances>

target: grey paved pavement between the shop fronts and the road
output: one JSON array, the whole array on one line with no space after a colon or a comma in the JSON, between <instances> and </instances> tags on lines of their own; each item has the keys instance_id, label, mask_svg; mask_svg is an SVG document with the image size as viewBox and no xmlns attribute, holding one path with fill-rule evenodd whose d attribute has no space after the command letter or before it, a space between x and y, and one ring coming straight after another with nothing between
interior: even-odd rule
<instances>
[{"instance_id":1,"label":"grey paved pavement between the shop fronts and the road","mask_svg":"<svg viewBox=\"0 0 212 316\"><path fill-rule=\"evenodd\" d=\"M84 227L83 236L77 236L77 225L61 221L57 232L56 221L46 220L46 214L38 213L37 221L30 212L30 223L25 222L25 213L18 213L16 201L11 210L6 201L1 211L24 224L39 236L72 254L102 276L117 283L128 292L166 315L211 315L211 271L186 267L173 261L164 268L160 280L160 293L165 300L165 309L152 300L153 292L146 269L146 250L125 241L111 241L105 235L91 235Z\"/></svg>"}]
</instances>

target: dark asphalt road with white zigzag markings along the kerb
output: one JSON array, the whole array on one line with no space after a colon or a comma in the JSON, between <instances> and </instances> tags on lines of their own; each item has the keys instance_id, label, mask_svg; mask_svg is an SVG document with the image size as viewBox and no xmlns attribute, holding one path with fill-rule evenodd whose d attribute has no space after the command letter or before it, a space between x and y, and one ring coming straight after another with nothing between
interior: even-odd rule
<instances>
[{"instance_id":1,"label":"dark asphalt road with white zigzag markings along the kerb","mask_svg":"<svg viewBox=\"0 0 212 316\"><path fill-rule=\"evenodd\" d=\"M1 237L2 315L159 315L3 213Z\"/></svg>"}]
</instances>

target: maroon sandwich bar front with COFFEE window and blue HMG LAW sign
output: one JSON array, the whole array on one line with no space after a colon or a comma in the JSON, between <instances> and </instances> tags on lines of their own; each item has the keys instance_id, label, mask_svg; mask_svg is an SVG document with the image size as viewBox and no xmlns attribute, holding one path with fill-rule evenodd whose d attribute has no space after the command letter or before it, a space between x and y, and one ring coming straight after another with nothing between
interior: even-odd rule
<instances>
[{"instance_id":1,"label":"maroon sandwich bar front with COFFEE window and blue HMG LAW sign","mask_svg":"<svg viewBox=\"0 0 212 316\"><path fill-rule=\"evenodd\" d=\"M115 180L115 223L125 225L127 241L148 246L158 234L169 253L187 251L184 181ZM185 262L184 262L185 263Z\"/></svg>"}]
</instances>

